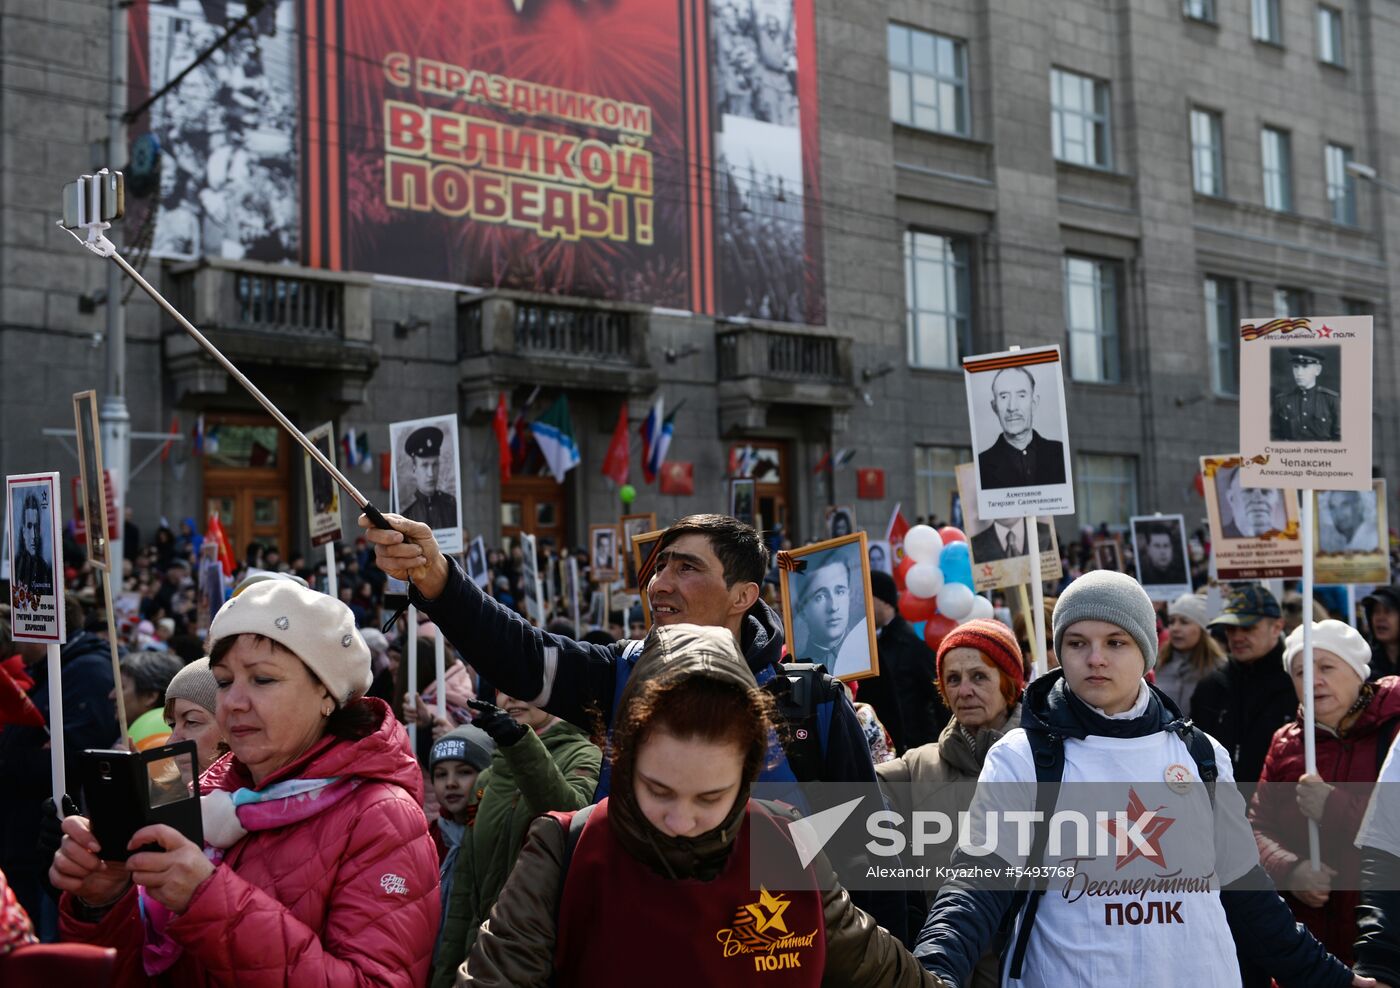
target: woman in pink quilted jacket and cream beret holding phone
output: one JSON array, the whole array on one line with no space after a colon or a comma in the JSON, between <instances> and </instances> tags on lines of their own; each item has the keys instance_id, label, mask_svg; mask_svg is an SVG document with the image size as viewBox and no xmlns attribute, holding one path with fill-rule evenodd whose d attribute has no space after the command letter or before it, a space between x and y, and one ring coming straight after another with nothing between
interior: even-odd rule
<instances>
[{"instance_id":1,"label":"woman in pink quilted jacket and cream beret holding phone","mask_svg":"<svg viewBox=\"0 0 1400 988\"><path fill-rule=\"evenodd\" d=\"M49 876L64 939L118 949L115 984L424 984L438 928L421 775L389 708L364 698L350 609L291 581L249 586L210 628L231 754L204 772L200 848L139 830L126 865L63 821Z\"/></svg>"}]
</instances>

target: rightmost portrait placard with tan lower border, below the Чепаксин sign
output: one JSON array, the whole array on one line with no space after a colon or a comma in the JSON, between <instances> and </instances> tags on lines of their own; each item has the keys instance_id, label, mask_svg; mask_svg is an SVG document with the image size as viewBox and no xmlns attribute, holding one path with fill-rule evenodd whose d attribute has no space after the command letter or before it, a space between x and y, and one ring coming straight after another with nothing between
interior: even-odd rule
<instances>
[{"instance_id":1,"label":"rightmost portrait placard with tan lower border, below the \u0427\u0435\u043f\u0430\u043a\u0441\u0438\u043d sign","mask_svg":"<svg viewBox=\"0 0 1400 988\"><path fill-rule=\"evenodd\" d=\"M1313 579L1319 584L1390 582L1386 481L1369 491L1315 491Z\"/></svg>"}]
</instances>

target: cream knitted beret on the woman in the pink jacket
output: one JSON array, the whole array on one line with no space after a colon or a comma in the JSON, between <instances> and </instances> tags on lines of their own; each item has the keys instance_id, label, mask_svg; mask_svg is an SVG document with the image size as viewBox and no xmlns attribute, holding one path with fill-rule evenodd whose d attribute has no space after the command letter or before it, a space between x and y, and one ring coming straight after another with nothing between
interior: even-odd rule
<instances>
[{"instance_id":1,"label":"cream knitted beret on the woman in the pink jacket","mask_svg":"<svg viewBox=\"0 0 1400 988\"><path fill-rule=\"evenodd\" d=\"M370 647L350 609L290 579L253 584L231 598L209 628L209 651L224 638L256 634L287 648L316 675L337 705L370 689Z\"/></svg>"}]
</instances>

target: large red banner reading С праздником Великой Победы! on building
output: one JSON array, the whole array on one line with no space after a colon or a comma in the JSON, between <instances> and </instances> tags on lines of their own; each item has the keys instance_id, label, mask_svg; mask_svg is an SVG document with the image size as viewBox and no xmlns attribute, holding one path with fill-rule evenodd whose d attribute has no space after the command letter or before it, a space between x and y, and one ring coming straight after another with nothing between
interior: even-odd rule
<instances>
[{"instance_id":1,"label":"large red banner reading \u0421 \u043f\u0440\u0430\u0437\u0434\u043d\u0438\u043a\u043e\u043c \u0412\u0435\u043b\u0438\u043a\u043e\u0439 \u041f\u043e\u0431\u0435\u0434\u044b! on building","mask_svg":"<svg viewBox=\"0 0 1400 988\"><path fill-rule=\"evenodd\" d=\"M186 6L133 10L133 99L242 14ZM283 0L253 34L134 127L157 252L825 322L812 0Z\"/></svg>"}]
</instances>

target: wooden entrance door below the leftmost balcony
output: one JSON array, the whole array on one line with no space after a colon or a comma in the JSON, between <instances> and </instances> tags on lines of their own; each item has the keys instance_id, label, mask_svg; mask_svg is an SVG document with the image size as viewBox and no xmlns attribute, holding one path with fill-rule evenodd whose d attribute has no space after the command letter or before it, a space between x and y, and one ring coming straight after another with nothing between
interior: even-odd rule
<instances>
[{"instance_id":1,"label":"wooden entrance door below the leftmost balcony","mask_svg":"<svg viewBox=\"0 0 1400 988\"><path fill-rule=\"evenodd\" d=\"M272 418L204 414L203 521L218 514L239 561L251 542L276 546L283 560L294 551L290 459L291 442Z\"/></svg>"}]
</instances>

